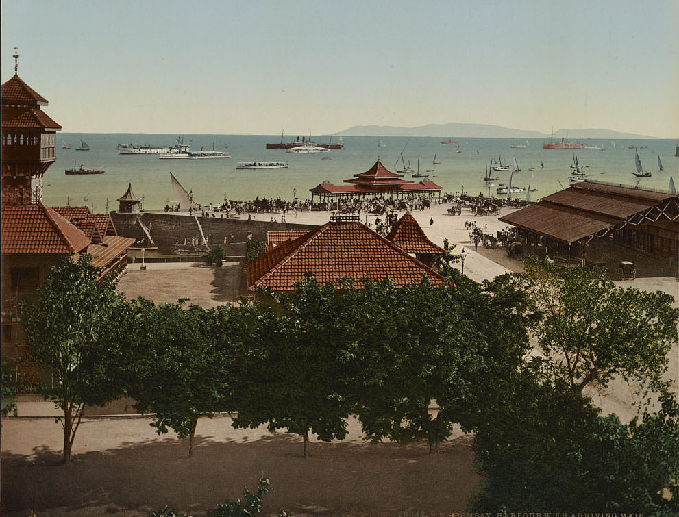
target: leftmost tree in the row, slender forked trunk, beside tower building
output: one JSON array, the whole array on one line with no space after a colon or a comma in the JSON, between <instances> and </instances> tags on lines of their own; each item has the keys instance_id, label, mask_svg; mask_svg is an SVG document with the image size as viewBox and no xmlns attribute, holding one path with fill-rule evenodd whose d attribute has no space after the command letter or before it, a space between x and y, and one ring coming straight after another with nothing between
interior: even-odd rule
<instances>
[{"instance_id":1,"label":"leftmost tree in the row, slender forked trunk, beside tower building","mask_svg":"<svg viewBox=\"0 0 679 517\"><path fill-rule=\"evenodd\" d=\"M103 405L121 391L115 379L125 305L112 275L97 281L90 255L64 259L50 270L36 299L20 303L28 353L53 376L40 389L63 412L58 420L64 463L71 461L84 407Z\"/></svg>"}]
</instances>

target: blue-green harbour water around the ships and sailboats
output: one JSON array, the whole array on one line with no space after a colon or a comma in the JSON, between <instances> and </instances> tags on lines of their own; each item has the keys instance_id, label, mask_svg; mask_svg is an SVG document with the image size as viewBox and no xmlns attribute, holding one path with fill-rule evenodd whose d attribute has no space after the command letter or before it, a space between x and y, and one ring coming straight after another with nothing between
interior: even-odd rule
<instances>
[{"instance_id":1,"label":"blue-green harbour water around the ships and sailboats","mask_svg":"<svg viewBox=\"0 0 679 517\"><path fill-rule=\"evenodd\" d=\"M138 144L170 147L177 138L190 144L192 151L228 151L232 157L211 160L161 160L157 155L121 155L117 144ZM175 203L170 173L192 192L201 205L221 205L225 200L251 200L259 197L311 199L310 189L325 182L343 185L345 179L367 171L375 160L390 171L403 163L443 188L444 193L465 192L491 197L504 197L495 192L498 183L530 185L530 200L538 201L570 184L573 157L587 171L587 179L606 181L624 186L668 191L670 177L679 181L679 158L674 156L675 140L597 140L582 141L589 149L543 149L540 138L455 138L459 145L443 145L449 138L344 136L344 149L328 153L291 154L284 150L267 150L267 142L280 142L280 135L169 135L169 134L75 134L57 135L57 160L43 178L42 201L50 206L88 206L92 212L118 209L116 199L127 185L143 201L144 210L160 210ZM90 151L78 151L80 140ZM295 136L284 138L288 142ZM301 137L300 137L301 140ZM313 142L327 144L337 136L312 137ZM382 140L386 147L379 147ZM62 142L71 149L62 149ZM512 147L512 146L526 147ZM636 149L635 149L636 148ZM634 152L652 177L637 178ZM434 157L441 164L434 165ZM663 164L659 170L658 157ZM514 158L521 171L512 173ZM267 170L237 170L238 162L286 161L289 168ZM510 171L493 172L499 179L495 186L484 187L484 175L498 160L510 166ZM66 168L103 167L100 175L66 175ZM408 181L421 178L404 176ZM526 194L513 194L526 197Z\"/></svg>"}]
</instances>

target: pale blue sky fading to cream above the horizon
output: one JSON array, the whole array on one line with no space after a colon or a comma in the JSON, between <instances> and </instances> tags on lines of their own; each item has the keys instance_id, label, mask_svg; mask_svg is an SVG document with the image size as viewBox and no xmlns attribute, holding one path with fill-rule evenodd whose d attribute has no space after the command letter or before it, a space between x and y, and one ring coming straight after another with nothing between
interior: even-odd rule
<instances>
[{"instance_id":1,"label":"pale blue sky fading to cream above the horizon","mask_svg":"<svg viewBox=\"0 0 679 517\"><path fill-rule=\"evenodd\" d=\"M679 0L2 0L64 132L451 122L679 138Z\"/></svg>"}]
</instances>

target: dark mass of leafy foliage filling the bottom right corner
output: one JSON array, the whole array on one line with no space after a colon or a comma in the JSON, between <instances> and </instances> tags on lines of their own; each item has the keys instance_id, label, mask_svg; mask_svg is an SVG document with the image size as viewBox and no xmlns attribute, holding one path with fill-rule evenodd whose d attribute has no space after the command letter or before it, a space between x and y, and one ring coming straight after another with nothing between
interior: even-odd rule
<instances>
[{"instance_id":1,"label":"dark mass of leafy foliage filling the bottom right corner","mask_svg":"<svg viewBox=\"0 0 679 517\"><path fill-rule=\"evenodd\" d=\"M679 512L673 396L663 394L661 411L642 423L623 425L563 380L552 386L523 375L506 388L474 436L482 480L473 511Z\"/></svg>"}]
</instances>

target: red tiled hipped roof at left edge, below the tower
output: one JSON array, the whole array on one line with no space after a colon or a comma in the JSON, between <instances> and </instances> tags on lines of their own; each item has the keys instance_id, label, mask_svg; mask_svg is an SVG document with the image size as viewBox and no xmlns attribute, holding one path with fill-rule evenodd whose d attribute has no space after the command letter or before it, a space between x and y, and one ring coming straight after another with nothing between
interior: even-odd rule
<instances>
[{"instance_id":1,"label":"red tiled hipped roof at left edge, below the tower","mask_svg":"<svg viewBox=\"0 0 679 517\"><path fill-rule=\"evenodd\" d=\"M80 253L90 240L50 207L2 209L2 253Z\"/></svg>"}]
</instances>

